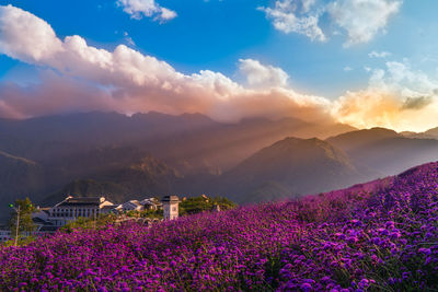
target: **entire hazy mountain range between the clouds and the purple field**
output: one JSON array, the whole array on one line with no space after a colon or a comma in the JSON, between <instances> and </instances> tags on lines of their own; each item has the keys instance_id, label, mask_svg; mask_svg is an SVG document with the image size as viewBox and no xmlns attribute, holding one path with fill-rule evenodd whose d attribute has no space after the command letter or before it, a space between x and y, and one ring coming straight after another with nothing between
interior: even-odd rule
<instances>
[{"instance_id":1,"label":"entire hazy mountain range between the clouds and the purple field","mask_svg":"<svg viewBox=\"0 0 438 292\"><path fill-rule=\"evenodd\" d=\"M25 196L51 205L68 194L116 202L208 194L249 203L321 192L438 160L427 135L154 112L0 119L0 213Z\"/></svg>"}]
</instances>

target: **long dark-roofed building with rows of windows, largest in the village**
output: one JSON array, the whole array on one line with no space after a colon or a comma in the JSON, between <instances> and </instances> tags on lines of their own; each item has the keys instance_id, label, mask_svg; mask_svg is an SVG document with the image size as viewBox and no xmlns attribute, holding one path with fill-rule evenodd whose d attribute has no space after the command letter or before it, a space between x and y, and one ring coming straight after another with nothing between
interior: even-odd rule
<instances>
[{"instance_id":1,"label":"long dark-roofed building with rows of windows, largest in the village","mask_svg":"<svg viewBox=\"0 0 438 292\"><path fill-rule=\"evenodd\" d=\"M97 218L105 206L112 206L104 197L95 198L73 198L67 197L48 211L47 221L55 226L64 226L69 221L78 218Z\"/></svg>"}]
</instances>

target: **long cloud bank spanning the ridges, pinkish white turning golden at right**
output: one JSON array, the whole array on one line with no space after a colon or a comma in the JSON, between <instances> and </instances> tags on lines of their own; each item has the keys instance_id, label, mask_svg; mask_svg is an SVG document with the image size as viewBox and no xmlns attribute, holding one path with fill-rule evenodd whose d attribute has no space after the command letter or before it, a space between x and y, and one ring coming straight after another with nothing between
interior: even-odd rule
<instances>
[{"instance_id":1,"label":"long cloud bank spanning the ridges, pinkish white turning golden at right","mask_svg":"<svg viewBox=\"0 0 438 292\"><path fill-rule=\"evenodd\" d=\"M47 22L12 5L0 7L0 54L42 71L36 84L0 83L0 117L158 110L203 113L221 121L295 117L360 128L425 130L438 126L438 80L407 62L370 68L367 89L331 101L297 92L284 70L254 59L239 60L239 73L245 80L240 84L210 70L184 74L125 45L110 51L88 45L78 35L60 39Z\"/></svg>"}]
</instances>

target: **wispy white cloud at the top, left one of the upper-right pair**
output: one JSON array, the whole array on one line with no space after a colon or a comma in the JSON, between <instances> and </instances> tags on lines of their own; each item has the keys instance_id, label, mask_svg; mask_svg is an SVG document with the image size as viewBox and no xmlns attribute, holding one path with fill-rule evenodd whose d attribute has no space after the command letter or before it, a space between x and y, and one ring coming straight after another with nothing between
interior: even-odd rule
<instances>
[{"instance_id":1,"label":"wispy white cloud at the top, left one of the upper-right pair","mask_svg":"<svg viewBox=\"0 0 438 292\"><path fill-rule=\"evenodd\" d=\"M279 0L274 8L260 8L273 20L275 28L284 33L298 33L308 36L312 40L324 42L326 39L318 25L319 14L310 13L315 1Z\"/></svg>"}]
</instances>

